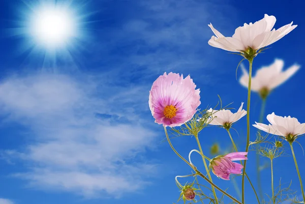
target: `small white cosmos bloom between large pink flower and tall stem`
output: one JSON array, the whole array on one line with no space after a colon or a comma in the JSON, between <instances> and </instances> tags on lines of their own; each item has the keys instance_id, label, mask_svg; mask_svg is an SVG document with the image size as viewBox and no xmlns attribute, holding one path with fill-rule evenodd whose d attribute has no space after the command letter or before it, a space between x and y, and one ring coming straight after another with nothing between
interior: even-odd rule
<instances>
[{"instance_id":1,"label":"small white cosmos bloom between large pink flower and tall stem","mask_svg":"<svg viewBox=\"0 0 305 204\"><path fill-rule=\"evenodd\" d=\"M220 125L230 128L232 123L235 123L236 121L238 121L247 114L247 111L243 110L242 106L243 106L243 102L241 103L241 106L235 113L232 113L231 110L213 110L212 108L210 108L209 110L207 110L207 112L212 113L211 115L212 117L211 117L211 121L209 122L209 125Z\"/></svg>"}]
</instances>

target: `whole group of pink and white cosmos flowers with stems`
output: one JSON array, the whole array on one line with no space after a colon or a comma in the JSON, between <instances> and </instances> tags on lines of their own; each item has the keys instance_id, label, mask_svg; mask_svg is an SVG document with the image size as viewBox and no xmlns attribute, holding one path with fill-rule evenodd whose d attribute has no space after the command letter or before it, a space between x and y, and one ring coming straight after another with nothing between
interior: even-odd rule
<instances>
[{"instance_id":1,"label":"whole group of pink and white cosmos flowers with stems","mask_svg":"<svg viewBox=\"0 0 305 204\"><path fill-rule=\"evenodd\" d=\"M243 56L244 59L247 59L250 64L249 73L243 68L243 75L240 77L239 82L241 85L248 88L248 103L247 103L247 111L250 111L250 92L257 92L263 100L270 94L270 92L275 89L277 86L285 82L288 78L290 78L298 69L298 65L293 65L286 71L283 71L284 62L282 60L277 59L272 65L268 67L263 67L259 69L256 73L256 76L251 76L252 71L252 62L254 57L256 57L266 46L280 40L289 32L291 32L296 25L287 24L278 30L273 28L273 25L276 22L276 18L274 16L268 16L265 14L264 18L255 22L254 24L245 23L243 26L236 28L235 34L232 37L224 37L219 31L217 31L212 24L208 26L211 28L212 32L216 36L212 36L208 41L208 44L221 48L224 50L238 52L239 55ZM273 30L272 30L273 28ZM252 80L250 80L252 79ZM251 84L252 81L252 84ZM186 78L176 73L164 73L159 76L157 80L153 83L149 93L149 108L151 110L152 115L155 118L155 122L164 126L166 131L166 127L178 127L186 124L190 120L194 118L195 113L198 111L198 106L201 104L200 102L200 91L196 89L196 85L191 79L190 76ZM208 125L222 126L226 129L230 135L229 129L231 126L240 120L243 116L247 115L247 111L242 109L243 103L237 110L237 112L232 113L228 109L214 110L212 108L206 110L209 113L208 118L210 120L205 121ZM248 114L249 115L249 114ZM250 137L250 121L248 117L248 143L246 144L245 152L238 152L234 141L230 135L233 146L236 152L229 153L227 155L219 155L213 159L208 159L205 157L201 151L195 150L199 154L202 155L204 163L205 159L209 161L209 169L219 178L223 180L230 180L230 174L241 174L242 168L245 167L243 172L243 177L246 173L246 160L248 151L249 151L249 137ZM297 137L302 134L305 134L305 123L299 123L296 118L282 117L276 115L274 112L267 115L267 120L270 124L262 124L257 123L253 126L262 130L264 132L278 135L288 141L292 148L292 142L295 141ZM201 119L196 119L198 123L200 123ZM189 128L189 127L188 127ZM166 132L167 135L167 132ZM196 136L196 135L195 135ZM198 135L197 135L198 136ZM168 139L168 142L169 139ZM171 147L172 144L170 143ZM173 147L172 147L173 148ZM174 150L174 149L173 149ZM293 149L291 149L293 152ZM175 150L174 150L175 151ZM176 152L176 151L175 151ZM177 152L176 154L180 156ZM191 153L190 153L191 154ZM294 155L294 153L293 153ZM245 160L243 165L241 163L236 163L233 161ZM187 162L187 161L186 161ZM190 162L187 162L193 169L196 171L196 175L202 175L200 171ZM297 163L295 160L296 168ZM206 169L207 170L207 169ZM297 168L298 171L298 168ZM207 170L208 174L208 170ZM298 171L299 174L299 171ZM212 183L211 178L206 178L202 176L202 178L206 179L214 188L217 188L221 192L223 192L228 197L232 198L232 196L228 195L226 192L222 191L215 184ZM300 179L300 175L299 175ZM177 180L176 180L177 181ZM250 180L249 180L250 181ZM180 185L180 184L179 184ZM303 193L302 182L300 179L301 191ZM181 195L184 200L193 200L195 199L195 188L192 185L186 185L184 187L181 186ZM273 185L272 185L273 190ZM242 191L244 191L243 181L242 181ZM273 193L273 192L272 192ZM214 191L215 199L217 200L215 191ZM272 195L273 196L273 195ZM237 203L245 203L245 198L242 196L242 202L232 198ZM305 197L304 197L305 199ZM258 201L259 202L259 201ZM216 201L218 203L218 201Z\"/></svg>"}]
</instances>

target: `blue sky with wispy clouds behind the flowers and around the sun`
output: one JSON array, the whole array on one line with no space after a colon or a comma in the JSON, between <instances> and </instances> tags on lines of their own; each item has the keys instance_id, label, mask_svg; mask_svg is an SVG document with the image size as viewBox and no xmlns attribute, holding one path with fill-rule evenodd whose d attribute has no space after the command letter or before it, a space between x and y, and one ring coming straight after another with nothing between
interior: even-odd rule
<instances>
[{"instance_id":1,"label":"blue sky with wispy clouds behind the flowers and around the sun","mask_svg":"<svg viewBox=\"0 0 305 204\"><path fill-rule=\"evenodd\" d=\"M271 93L265 113L305 122L302 1L58 0L54 2L70 2L79 24L73 41L56 54L36 45L27 33L28 16L44 2L1 2L1 204L175 202L179 192L174 178L191 169L161 142L163 127L154 123L148 107L151 84L164 72L190 74L201 90L200 108L216 105L218 94L224 104L234 102L233 108L247 102L247 90L235 79L241 57L207 44L210 22L225 36L265 13L276 16L276 28L291 21L298 24L256 57L253 69L276 58L285 61L284 69L301 65ZM252 124L259 111L260 99L252 94ZM235 132L232 136L243 150L246 118L234 127L239 137ZM255 132L252 127L251 140ZM230 148L223 129L208 127L199 137L208 156L214 142L222 150ZM305 138L298 141L304 144ZM183 156L196 149L191 137L172 142ZM291 188L300 192L285 146L289 156L274 161L275 186L280 178L284 183L292 180ZM305 157L298 145L295 152L305 179ZM199 163L201 158L194 155L192 161ZM249 154L247 172L256 186L254 152ZM262 171L262 178L263 191L270 194L269 168ZM237 196L232 182L214 175L213 179ZM246 187L247 203L255 203L248 183Z\"/></svg>"}]
</instances>

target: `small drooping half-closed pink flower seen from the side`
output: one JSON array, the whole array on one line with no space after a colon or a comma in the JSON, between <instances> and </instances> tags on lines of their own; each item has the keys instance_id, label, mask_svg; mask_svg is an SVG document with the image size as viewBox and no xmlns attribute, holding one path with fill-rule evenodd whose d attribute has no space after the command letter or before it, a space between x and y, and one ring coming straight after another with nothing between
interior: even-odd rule
<instances>
[{"instance_id":1,"label":"small drooping half-closed pink flower seen from the side","mask_svg":"<svg viewBox=\"0 0 305 204\"><path fill-rule=\"evenodd\" d=\"M233 152L225 156L217 156L210 161L212 172L223 180L230 180L230 174L241 174L243 166L232 161L246 160L248 152Z\"/></svg>"}]
</instances>

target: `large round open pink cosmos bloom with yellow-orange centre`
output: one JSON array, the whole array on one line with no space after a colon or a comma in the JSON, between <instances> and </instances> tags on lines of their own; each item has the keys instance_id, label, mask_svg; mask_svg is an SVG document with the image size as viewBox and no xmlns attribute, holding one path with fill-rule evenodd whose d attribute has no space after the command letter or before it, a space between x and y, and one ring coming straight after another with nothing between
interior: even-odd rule
<instances>
[{"instance_id":1,"label":"large round open pink cosmos bloom with yellow-orange centre","mask_svg":"<svg viewBox=\"0 0 305 204\"><path fill-rule=\"evenodd\" d=\"M190 75L185 79L166 72L157 78L149 92L149 108L155 122L175 127L191 120L200 105L199 89Z\"/></svg>"}]
</instances>

